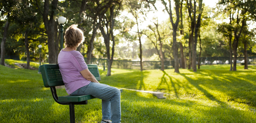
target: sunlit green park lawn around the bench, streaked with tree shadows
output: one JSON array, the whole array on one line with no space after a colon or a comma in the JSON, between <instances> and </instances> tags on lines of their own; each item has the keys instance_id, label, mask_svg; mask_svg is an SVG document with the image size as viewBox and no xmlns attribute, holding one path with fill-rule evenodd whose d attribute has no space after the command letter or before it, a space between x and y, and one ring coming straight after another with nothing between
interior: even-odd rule
<instances>
[{"instance_id":1,"label":"sunlit green park lawn around the bench, streaked with tree shadows","mask_svg":"<svg viewBox=\"0 0 256 123\"><path fill-rule=\"evenodd\" d=\"M210 68L210 69L209 69ZM224 68L224 69L223 69ZM180 69L111 69L99 67L102 81L117 88L164 92L167 99L124 90L122 123L254 123L256 122L256 67L205 65L197 72ZM37 70L10 69L0 65L0 122L65 123L69 107L57 104ZM57 89L59 96L67 95ZM75 106L76 122L99 123L101 100Z\"/></svg>"}]
</instances>

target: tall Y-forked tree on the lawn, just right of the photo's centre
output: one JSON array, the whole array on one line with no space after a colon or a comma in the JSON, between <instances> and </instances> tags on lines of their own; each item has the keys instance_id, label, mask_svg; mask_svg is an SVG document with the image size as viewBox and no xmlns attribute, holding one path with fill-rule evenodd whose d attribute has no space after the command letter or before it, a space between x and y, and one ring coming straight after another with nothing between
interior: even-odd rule
<instances>
[{"instance_id":1,"label":"tall Y-forked tree on the lawn, just right of the photo's centre","mask_svg":"<svg viewBox=\"0 0 256 123\"><path fill-rule=\"evenodd\" d=\"M174 57L174 72L179 73L179 61L178 61L178 47L177 47L177 28L178 28L178 24L179 24L179 5L180 5L180 1L179 0L175 0L175 11L176 11L176 22L174 23L173 21L173 17L172 17L172 8L171 8L171 2L169 0L169 8L167 7L167 3L162 0L162 4L164 4L165 6L165 11L168 12L169 16L170 16L170 22L172 24L172 36L173 36L173 44L172 44L172 48L173 48L173 57Z\"/></svg>"}]
</instances>

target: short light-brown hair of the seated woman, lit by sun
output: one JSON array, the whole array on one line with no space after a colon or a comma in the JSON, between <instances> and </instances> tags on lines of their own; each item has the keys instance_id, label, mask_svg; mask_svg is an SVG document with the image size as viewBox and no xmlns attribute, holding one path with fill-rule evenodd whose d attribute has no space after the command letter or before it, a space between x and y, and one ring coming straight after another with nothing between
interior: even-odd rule
<instances>
[{"instance_id":1,"label":"short light-brown hair of the seated woman, lit by sun","mask_svg":"<svg viewBox=\"0 0 256 123\"><path fill-rule=\"evenodd\" d=\"M66 29L64 38L66 47L75 48L84 42L84 33L73 24Z\"/></svg>"}]
</instances>

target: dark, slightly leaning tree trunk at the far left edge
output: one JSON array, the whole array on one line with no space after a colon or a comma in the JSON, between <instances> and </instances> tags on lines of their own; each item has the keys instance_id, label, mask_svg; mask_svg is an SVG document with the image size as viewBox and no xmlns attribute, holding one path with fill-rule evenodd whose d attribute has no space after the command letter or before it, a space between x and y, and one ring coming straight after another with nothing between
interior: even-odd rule
<instances>
[{"instance_id":1,"label":"dark, slightly leaning tree trunk at the far left edge","mask_svg":"<svg viewBox=\"0 0 256 123\"><path fill-rule=\"evenodd\" d=\"M4 34L3 34L3 39L2 39L2 42L1 42L1 65L4 65L4 57L5 57L5 41L6 41L6 38L7 38L7 32L8 32L8 28L9 28L9 21L8 21L8 18L5 22L5 26L4 26Z\"/></svg>"}]
</instances>

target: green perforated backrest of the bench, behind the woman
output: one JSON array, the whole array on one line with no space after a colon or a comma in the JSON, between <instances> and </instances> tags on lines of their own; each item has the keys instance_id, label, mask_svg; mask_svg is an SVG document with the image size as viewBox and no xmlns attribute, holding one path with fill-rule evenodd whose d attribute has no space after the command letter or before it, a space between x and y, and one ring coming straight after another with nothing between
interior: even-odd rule
<instances>
[{"instance_id":1,"label":"green perforated backrest of the bench, behind the woman","mask_svg":"<svg viewBox=\"0 0 256 123\"><path fill-rule=\"evenodd\" d=\"M98 66L95 64L88 64L88 69L100 81L100 73ZM58 64L44 64L40 66L43 83L45 87L64 85Z\"/></svg>"}]
</instances>

